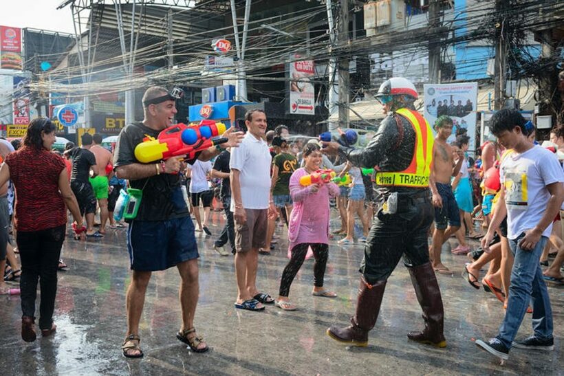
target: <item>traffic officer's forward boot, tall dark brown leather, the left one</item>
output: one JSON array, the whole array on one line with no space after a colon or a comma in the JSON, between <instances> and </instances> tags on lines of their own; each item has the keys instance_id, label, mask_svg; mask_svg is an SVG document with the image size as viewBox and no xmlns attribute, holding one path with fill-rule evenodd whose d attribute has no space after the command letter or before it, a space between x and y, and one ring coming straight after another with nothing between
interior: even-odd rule
<instances>
[{"instance_id":1,"label":"traffic officer's forward boot, tall dark brown leather, the left one","mask_svg":"<svg viewBox=\"0 0 564 376\"><path fill-rule=\"evenodd\" d=\"M346 328L332 326L327 329L327 335L345 344L360 347L368 346L368 332L376 324L385 288L385 280L369 285L364 278L360 278L356 314L351 317L351 325Z\"/></svg>"}]
</instances>

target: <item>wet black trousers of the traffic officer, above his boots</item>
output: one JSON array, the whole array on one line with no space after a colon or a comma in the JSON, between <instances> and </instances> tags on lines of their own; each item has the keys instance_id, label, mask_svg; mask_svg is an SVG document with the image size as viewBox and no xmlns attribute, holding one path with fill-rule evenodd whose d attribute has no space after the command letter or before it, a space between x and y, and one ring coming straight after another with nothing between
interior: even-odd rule
<instances>
[{"instance_id":1,"label":"wet black trousers of the traffic officer, above his boots","mask_svg":"<svg viewBox=\"0 0 564 376\"><path fill-rule=\"evenodd\" d=\"M427 234L435 213L431 198L402 195L398 208L395 214L384 214L380 208L372 221L360 265L372 285L387 280L402 256L406 267L429 263Z\"/></svg>"}]
</instances>

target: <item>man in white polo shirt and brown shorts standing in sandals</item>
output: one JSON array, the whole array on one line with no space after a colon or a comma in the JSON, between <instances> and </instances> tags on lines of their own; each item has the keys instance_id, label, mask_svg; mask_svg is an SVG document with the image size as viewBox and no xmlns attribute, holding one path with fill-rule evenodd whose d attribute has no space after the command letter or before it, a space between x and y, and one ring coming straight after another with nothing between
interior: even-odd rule
<instances>
[{"instance_id":1,"label":"man in white polo shirt and brown shorts standing in sandals","mask_svg":"<svg viewBox=\"0 0 564 376\"><path fill-rule=\"evenodd\" d=\"M268 214L276 212L270 195L272 157L264 137L266 115L260 109L245 114L247 134L231 151L231 211L235 217L235 308L261 311L274 303L257 289L259 249L265 246Z\"/></svg>"}]
</instances>

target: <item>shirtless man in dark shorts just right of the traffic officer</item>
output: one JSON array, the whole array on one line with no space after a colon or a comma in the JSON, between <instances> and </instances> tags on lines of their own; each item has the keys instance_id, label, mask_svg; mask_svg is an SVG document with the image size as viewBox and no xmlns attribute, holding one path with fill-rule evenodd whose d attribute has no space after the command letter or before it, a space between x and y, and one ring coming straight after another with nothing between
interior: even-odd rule
<instances>
[{"instance_id":1,"label":"shirtless man in dark shorts just right of the traffic officer","mask_svg":"<svg viewBox=\"0 0 564 376\"><path fill-rule=\"evenodd\" d=\"M464 161L464 153L455 152L446 143L446 139L453 133L451 118L446 115L440 116L433 129L437 132L437 136L433 146L433 168L429 177L429 188L433 193L433 206L435 206L435 232L433 232L433 245L429 256L435 272L452 274L448 267L441 263L441 247L460 227L460 214L451 188L451 177L458 175ZM458 154L457 164L454 162L455 153Z\"/></svg>"}]
</instances>

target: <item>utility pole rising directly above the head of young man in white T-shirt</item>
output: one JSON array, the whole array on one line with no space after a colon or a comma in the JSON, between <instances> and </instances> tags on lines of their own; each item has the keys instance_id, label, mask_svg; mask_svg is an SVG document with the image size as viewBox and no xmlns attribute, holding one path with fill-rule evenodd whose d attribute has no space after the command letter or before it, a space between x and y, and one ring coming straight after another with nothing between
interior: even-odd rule
<instances>
[{"instance_id":1,"label":"utility pole rising directly above the head of young man in white T-shirt","mask_svg":"<svg viewBox=\"0 0 564 376\"><path fill-rule=\"evenodd\" d=\"M508 0L495 0L495 14L497 16L496 42L495 42L495 66L494 66L494 109L500 110L505 102L504 91L506 82L506 53L507 45L503 38L503 14L508 5ZM502 15L503 14L503 15Z\"/></svg>"}]
</instances>

